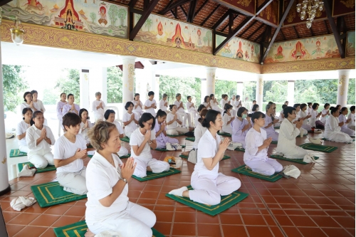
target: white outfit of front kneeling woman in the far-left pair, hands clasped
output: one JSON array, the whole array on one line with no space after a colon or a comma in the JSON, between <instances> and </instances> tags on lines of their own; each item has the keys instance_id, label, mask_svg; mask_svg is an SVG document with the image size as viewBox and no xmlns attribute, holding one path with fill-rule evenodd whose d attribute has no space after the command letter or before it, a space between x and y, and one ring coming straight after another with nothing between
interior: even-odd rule
<instances>
[{"instance_id":1,"label":"white outfit of front kneeling woman in the far-left pair, hands clasped","mask_svg":"<svg viewBox=\"0 0 356 237\"><path fill-rule=\"evenodd\" d=\"M31 162L37 169L46 168L48 164L53 165L53 154L51 153L51 145L55 144L52 130L50 127L43 125L46 128L46 137L51 139L51 144L43 139L39 144L36 144L37 139L41 137L41 130L38 130L35 125L26 130L26 143L28 146L28 162ZM42 128L42 129L43 129Z\"/></svg>"}]
</instances>

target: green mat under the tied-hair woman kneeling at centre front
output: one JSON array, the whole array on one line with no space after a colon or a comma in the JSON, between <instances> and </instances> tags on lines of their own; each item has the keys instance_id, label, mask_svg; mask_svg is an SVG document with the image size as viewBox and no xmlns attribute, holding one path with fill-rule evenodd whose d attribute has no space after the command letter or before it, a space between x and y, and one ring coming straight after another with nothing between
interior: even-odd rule
<instances>
[{"instance_id":1,"label":"green mat under the tied-hair woman kneeling at centre front","mask_svg":"<svg viewBox=\"0 0 356 237\"><path fill-rule=\"evenodd\" d=\"M192 186L187 186L189 190L193 190ZM226 195L226 196L221 196L221 202L220 204L217 205L206 205L206 204L199 204L199 202L192 201L189 198L182 197L182 196L175 196L172 194L166 194L169 198L180 202L181 204L187 205L192 207L193 209L197 209L199 211L202 211L206 214L209 214L210 216L215 216L216 214L219 214L223 211L226 211L229 209L231 206L234 206L235 204L239 203L243 199L246 199L248 194L245 194L241 191L234 191L232 194Z\"/></svg>"}]
</instances>

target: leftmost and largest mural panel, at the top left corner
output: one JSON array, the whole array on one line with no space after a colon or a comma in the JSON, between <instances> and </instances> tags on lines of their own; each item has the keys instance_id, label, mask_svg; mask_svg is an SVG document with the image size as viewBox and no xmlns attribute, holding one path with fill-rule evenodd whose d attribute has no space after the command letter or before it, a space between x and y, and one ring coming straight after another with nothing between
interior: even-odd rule
<instances>
[{"instance_id":1,"label":"leftmost and largest mural panel, at the top left corner","mask_svg":"<svg viewBox=\"0 0 356 237\"><path fill-rule=\"evenodd\" d=\"M127 38L127 7L98 0L14 0L4 16L26 23Z\"/></svg>"}]
</instances>

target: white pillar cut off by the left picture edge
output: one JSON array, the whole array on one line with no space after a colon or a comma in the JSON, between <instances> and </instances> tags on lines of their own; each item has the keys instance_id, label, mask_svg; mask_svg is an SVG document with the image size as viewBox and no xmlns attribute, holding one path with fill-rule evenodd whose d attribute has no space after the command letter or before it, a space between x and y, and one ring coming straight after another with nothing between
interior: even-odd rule
<instances>
[{"instance_id":1,"label":"white pillar cut off by the left picture edge","mask_svg":"<svg viewBox=\"0 0 356 237\"><path fill-rule=\"evenodd\" d=\"M1 8L0 8L1 10ZM1 41L1 40L0 40ZM0 85L3 85L2 63L1 63L1 45L0 45ZM4 118L4 93L0 90L0 196L11 191L9 177L7 174L7 152L5 139L5 120Z\"/></svg>"}]
</instances>

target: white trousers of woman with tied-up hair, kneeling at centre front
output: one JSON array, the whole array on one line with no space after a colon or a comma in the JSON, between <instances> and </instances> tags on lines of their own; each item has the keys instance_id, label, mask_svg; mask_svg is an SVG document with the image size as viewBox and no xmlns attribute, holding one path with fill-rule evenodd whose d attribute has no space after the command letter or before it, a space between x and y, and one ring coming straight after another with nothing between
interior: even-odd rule
<instances>
[{"instance_id":1,"label":"white trousers of woman with tied-up hair, kneeling at centre front","mask_svg":"<svg viewBox=\"0 0 356 237\"><path fill-rule=\"evenodd\" d=\"M194 173L191 184L194 190L189 191L189 199L200 204L217 205L221 201L221 196L229 195L239 189L241 181L221 173L216 179Z\"/></svg>"}]
</instances>

